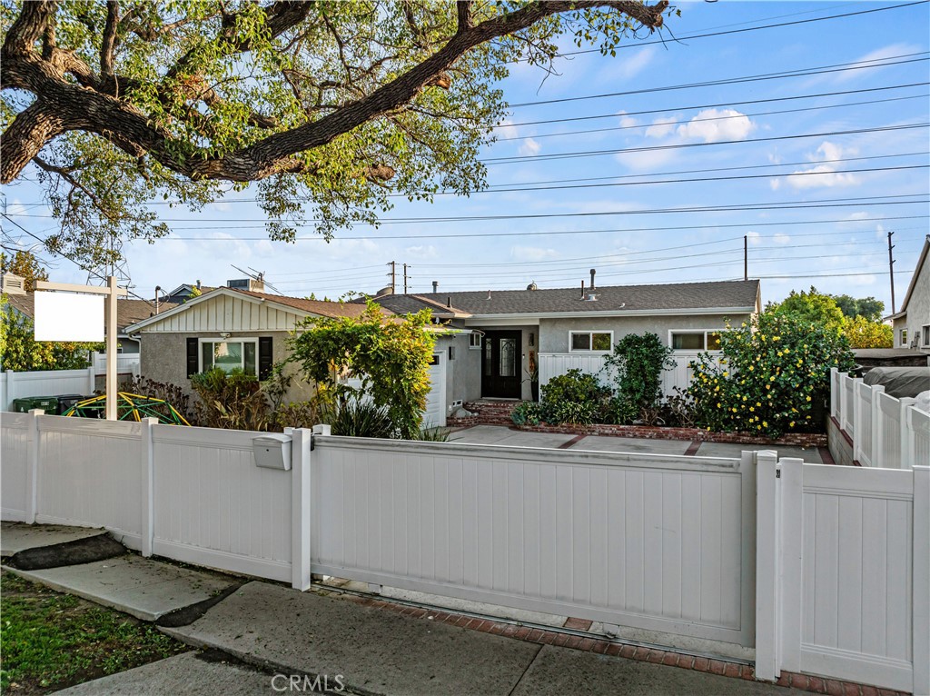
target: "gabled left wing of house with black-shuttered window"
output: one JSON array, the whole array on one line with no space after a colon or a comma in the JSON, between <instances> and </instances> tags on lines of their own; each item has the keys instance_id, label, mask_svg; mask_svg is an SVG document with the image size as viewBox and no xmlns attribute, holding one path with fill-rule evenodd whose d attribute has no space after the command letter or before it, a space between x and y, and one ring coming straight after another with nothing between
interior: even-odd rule
<instances>
[{"instance_id":1,"label":"gabled left wing of house with black-shuttered window","mask_svg":"<svg viewBox=\"0 0 930 696\"><path fill-rule=\"evenodd\" d=\"M193 394L191 377L211 368L242 368L268 379L274 364L286 358L287 336L307 317L358 316L364 311L359 304L215 288L143 319L128 331L141 343L142 376L177 384ZM309 385L295 380L286 399L309 395Z\"/></svg>"}]
</instances>

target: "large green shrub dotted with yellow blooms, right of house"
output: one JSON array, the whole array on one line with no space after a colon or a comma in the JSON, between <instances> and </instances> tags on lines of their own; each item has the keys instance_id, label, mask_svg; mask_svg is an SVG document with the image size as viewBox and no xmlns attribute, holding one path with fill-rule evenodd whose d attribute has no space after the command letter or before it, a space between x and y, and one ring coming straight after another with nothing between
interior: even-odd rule
<instances>
[{"instance_id":1,"label":"large green shrub dotted with yellow blooms, right of house","mask_svg":"<svg viewBox=\"0 0 930 696\"><path fill-rule=\"evenodd\" d=\"M721 333L722 358L692 362L688 388L697 425L778 437L819 432L817 417L830 394L830 368L854 366L849 342L832 328L766 311L751 326Z\"/></svg>"}]
</instances>

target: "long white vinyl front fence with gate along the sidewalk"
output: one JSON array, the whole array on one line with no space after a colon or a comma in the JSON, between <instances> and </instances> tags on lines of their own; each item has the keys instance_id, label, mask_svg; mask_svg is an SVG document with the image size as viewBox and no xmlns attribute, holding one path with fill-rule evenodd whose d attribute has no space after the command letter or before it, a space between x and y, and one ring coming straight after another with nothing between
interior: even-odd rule
<instances>
[{"instance_id":1,"label":"long white vinyl front fence with gate along the sidewalk","mask_svg":"<svg viewBox=\"0 0 930 696\"><path fill-rule=\"evenodd\" d=\"M612 454L0 413L5 520L143 555L311 573L755 648L930 692L930 468ZM712 649L712 648L711 648Z\"/></svg>"}]
</instances>

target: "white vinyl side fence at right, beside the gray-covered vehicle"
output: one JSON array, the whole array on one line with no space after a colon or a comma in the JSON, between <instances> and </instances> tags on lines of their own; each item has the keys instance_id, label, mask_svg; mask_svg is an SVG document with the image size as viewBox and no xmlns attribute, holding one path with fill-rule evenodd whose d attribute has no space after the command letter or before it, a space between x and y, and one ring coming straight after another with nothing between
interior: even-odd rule
<instances>
[{"instance_id":1,"label":"white vinyl side fence at right, beside the gray-covered vehicle","mask_svg":"<svg viewBox=\"0 0 930 696\"><path fill-rule=\"evenodd\" d=\"M836 368L830 370L830 415L853 442L862 466L907 469L930 463L930 413L914 399L889 396Z\"/></svg>"}]
</instances>

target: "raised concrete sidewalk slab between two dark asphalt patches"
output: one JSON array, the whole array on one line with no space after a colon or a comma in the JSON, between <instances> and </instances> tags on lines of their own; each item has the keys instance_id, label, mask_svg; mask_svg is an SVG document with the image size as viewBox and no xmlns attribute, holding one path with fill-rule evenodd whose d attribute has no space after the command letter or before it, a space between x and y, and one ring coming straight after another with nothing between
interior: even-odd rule
<instances>
[{"instance_id":1,"label":"raised concrete sidewalk slab between two dark asphalt patches","mask_svg":"<svg viewBox=\"0 0 930 696\"><path fill-rule=\"evenodd\" d=\"M199 570L124 555L97 563L46 570L13 570L53 590L84 597L142 621L155 621L178 609L203 602L233 582Z\"/></svg>"}]
</instances>

